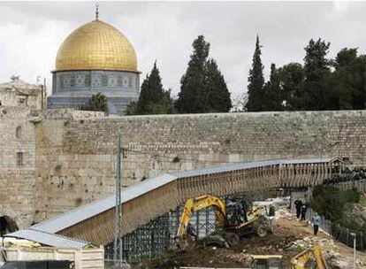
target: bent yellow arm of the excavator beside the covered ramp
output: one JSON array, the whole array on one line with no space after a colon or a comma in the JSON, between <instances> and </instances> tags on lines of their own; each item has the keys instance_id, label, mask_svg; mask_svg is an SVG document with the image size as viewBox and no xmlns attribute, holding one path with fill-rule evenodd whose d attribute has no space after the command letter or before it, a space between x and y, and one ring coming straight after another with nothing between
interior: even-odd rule
<instances>
[{"instance_id":1,"label":"bent yellow arm of the excavator beside the covered ramp","mask_svg":"<svg viewBox=\"0 0 366 269\"><path fill-rule=\"evenodd\" d=\"M187 200L182 212L182 216L180 218L177 237L180 237L183 234L187 233L187 226L193 212L201 211L202 209L208 208L210 206L213 206L215 208L215 215L218 226L224 227L227 222L225 202L216 196L199 196Z\"/></svg>"}]
</instances>

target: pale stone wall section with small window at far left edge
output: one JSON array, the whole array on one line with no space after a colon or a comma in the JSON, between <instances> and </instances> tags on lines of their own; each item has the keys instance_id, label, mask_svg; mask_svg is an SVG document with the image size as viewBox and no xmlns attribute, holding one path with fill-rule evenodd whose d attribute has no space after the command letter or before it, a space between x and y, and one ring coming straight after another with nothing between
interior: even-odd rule
<instances>
[{"instance_id":1,"label":"pale stone wall section with small window at far left edge","mask_svg":"<svg viewBox=\"0 0 366 269\"><path fill-rule=\"evenodd\" d=\"M35 135L29 109L0 107L0 216L34 220Z\"/></svg>"}]
</instances>

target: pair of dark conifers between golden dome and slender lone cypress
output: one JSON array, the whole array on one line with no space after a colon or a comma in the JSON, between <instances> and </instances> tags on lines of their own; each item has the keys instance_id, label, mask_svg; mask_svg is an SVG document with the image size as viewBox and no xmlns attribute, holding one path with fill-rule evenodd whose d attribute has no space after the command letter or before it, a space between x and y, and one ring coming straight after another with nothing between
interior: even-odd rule
<instances>
[{"instance_id":1,"label":"pair of dark conifers between golden dome and slender lone cypress","mask_svg":"<svg viewBox=\"0 0 366 269\"><path fill-rule=\"evenodd\" d=\"M127 106L126 115L227 112L232 108L230 92L215 59L210 58L210 42L199 35L186 73L180 79L177 100L164 89L156 62L141 84L137 102Z\"/></svg>"}]
</instances>

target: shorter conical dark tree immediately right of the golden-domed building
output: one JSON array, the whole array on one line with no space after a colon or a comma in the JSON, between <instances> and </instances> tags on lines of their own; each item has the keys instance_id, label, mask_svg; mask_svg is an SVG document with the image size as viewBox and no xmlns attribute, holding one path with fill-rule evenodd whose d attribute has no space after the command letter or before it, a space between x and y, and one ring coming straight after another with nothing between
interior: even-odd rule
<instances>
[{"instance_id":1,"label":"shorter conical dark tree immediately right of the golden-domed building","mask_svg":"<svg viewBox=\"0 0 366 269\"><path fill-rule=\"evenodd\" d=\"M171 91L164 90L159 69L154 63L149 73L141 84L139 101L128 105L126 115L146 114L171 114L173 113Z\"/></svg>"}]
</instances>

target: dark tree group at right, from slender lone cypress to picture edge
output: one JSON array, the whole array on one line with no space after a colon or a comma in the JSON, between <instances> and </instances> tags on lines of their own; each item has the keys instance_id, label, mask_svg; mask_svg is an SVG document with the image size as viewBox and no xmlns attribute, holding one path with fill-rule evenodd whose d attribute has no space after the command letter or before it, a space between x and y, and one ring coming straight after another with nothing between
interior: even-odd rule
<instances>
[{"instance_id":1,"label":"dark tree group at right, from slender lone cypress to picture edge","mask_svg":"<svg viewBox=\"0 0 366 269\"><path fill-rule=\"evenodd\" d=\"M327 58L330 42L309 41L304 63L277 68L271 64L264 82L261 45L257 36L248 76L247 111L362 110L366 101L366 56L355 48L339 50Z\"/></svg>"}]
</instances>

